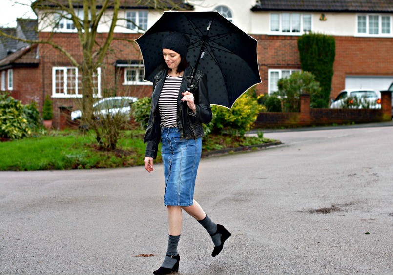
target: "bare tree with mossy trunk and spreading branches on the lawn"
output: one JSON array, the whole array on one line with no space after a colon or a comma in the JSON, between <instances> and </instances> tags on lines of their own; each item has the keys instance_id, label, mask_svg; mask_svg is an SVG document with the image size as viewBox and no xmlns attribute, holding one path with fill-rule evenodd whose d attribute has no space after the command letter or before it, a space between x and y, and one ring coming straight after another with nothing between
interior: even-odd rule
<instances>
[{"instance_id":1,"label":"bare tree with mossy trunk and spreading branches on the lawn","mask_svg":"<svg viewBox=\"0 0 393 275\"><path fill-rule=\"evenodd\" d=\"M114 30L118 21L127 20L118 17L119 10L124 5L131 4L133 6L145 6L155 10L179 10L182 9L181 5L183 5L181 0L36 0L32 2L31 7L38 15L39 28L50 28L52 36L55 34L56 28L58 28L61 20L66 19L72 22L79 39L80 48L82 49L82 59L77 58L72 52L67 51L64 45L54 42L51 36L37 41L28 40L12 36L0 29L0 36L30 44L45 44L53 47L65 55L73 66L78 68L78 71L81 72L81 109L83 123L95 131L96 139L99 143L102 143L103 133L114 133L111 135L118 136L118 130L106 129L102 131L100 128L113 126L119 129L119 125L97 121L97 115L92 108L95 100L93 79L97 69L103 65L106 55L111 51L111 43L117 39L114 37ZM105 15L109 11L110 17ZM104 39L103 36L98 35L98 28L103 22L109 26ZM137 25L135 22L131 23ZM124 42L134 42L133 39L119 39L124 40ZM121 120L119 121L121 123ZM117 140L117 138L113 140ZM109 144L109 146L104 145L104 147L109 147L109 149L116 147L116 142L109 142Z\"/></svg>"}]
</instances>

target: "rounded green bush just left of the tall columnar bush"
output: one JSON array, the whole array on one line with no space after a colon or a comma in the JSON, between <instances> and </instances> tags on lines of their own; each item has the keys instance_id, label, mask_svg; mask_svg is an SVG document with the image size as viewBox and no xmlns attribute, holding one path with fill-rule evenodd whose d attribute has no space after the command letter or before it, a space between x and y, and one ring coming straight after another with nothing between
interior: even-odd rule
<instances>
[{"instance_id":1,"label":"rounded green bush just left of the tall columnar bush","mask_svg":"<svg viewBox=\"0 0 393 275\"><path fill-rule=\"evenodd\" d=\"M277 85L275 94L283 98L284 112L300 112L300 95L309 94L311 101L321 91L319 82L310 72L294 72L289 78L279 79Z\"/></svg>"}]
</instances>

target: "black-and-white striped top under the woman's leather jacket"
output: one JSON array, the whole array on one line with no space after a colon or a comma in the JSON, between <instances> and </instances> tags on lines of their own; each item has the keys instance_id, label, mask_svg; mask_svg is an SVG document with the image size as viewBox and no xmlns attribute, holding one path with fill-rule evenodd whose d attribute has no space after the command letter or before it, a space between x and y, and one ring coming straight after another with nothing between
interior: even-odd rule
<instances>
[{"instance_id":1,"label":"black-and-white striped top under the woman's leather jacket","mask_svg":"<svg viewBox=\"0 0 393 275\"><path fill-rule=\"evenodd\" d=\"M177 127L176 108L177 98L180 92L180 84L183 76L171 77L166 75L160 98L158 99L158 109L160 110L161 127Z\"/></svg>"}]
</instances>

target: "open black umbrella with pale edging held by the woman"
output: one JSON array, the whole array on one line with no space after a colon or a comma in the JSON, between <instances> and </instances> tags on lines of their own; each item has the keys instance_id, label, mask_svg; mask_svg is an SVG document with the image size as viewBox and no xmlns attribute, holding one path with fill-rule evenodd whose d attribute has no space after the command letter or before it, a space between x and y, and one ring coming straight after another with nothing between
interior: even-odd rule
<instances>
[{"instance_id":1,"label":"open black umbrella with pale edging held by the woman","mask_svg":"<svg viewBox=\"0 0 393 275\"><path fill-rule=\"evenodd\" d=\"M207 74L211 104L231 108L248 88L261 83L257 43L220 13L164 12L145 34L136 39L144 61L144 79L153 82L162 63L162 42L170 32L191 41L187 60Z\"/></svg>"}]
</instances>

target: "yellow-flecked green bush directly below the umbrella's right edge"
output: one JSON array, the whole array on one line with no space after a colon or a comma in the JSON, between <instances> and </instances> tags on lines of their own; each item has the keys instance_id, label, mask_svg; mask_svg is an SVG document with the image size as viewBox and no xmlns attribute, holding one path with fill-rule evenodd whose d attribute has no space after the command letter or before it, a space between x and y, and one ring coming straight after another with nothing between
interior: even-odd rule
<instances>
[{"instance_id":1,"label":"yellow-flecked green bush directly below the umbrella's right edge","mask_svg":"<svg viewBox=\"0 0 393 275\"><path fill-rule=\"evenodd\" d=\"M204 126L205 132L220 134L225 131L230 135L244 135L251 130L259 113L264 109L252 96L252 91L244 93L230 110L222 106L212 106L213 119Z\"/></svg>"}]
</instances>

